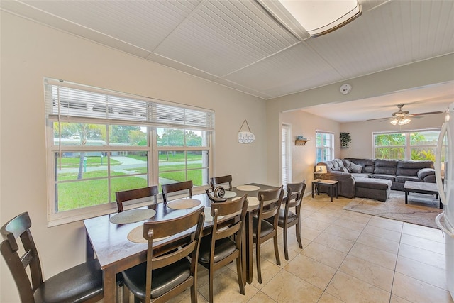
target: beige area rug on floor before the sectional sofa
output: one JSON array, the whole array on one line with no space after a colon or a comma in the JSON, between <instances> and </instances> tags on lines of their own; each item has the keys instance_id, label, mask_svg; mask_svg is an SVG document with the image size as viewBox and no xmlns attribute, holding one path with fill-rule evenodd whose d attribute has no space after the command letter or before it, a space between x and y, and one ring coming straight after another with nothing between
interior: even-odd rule
<instances>
[{"instance_id":1,"label":"beige area rug on floor before the sectional sofa","mask_svg":"<svg viewBox=\"0 0 454 303\"><path fill-rule=\"evenodd\" d=\"M435 217L443 211L438 205L438 199L431 195L412 193L409 194L409 204L405 204L405 193L392 191L386 202L355 198L343 209L438 228Z\"/></svg>"}]
</instances>

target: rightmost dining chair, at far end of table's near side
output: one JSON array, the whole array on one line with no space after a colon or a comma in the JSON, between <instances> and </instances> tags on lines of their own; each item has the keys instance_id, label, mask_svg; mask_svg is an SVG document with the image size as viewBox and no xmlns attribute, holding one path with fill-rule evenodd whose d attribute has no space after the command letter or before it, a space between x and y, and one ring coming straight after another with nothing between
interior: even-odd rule
<instances>
[{"instance_id":1,"label":"rightmost dining chair, at far end of table's near side","mask_svg":"<svg viewBox=\"0 0 454 303\"><path fill-rule=\"evenodd\" d=\"M285 208L280 209L279 219L277 225L284 229L284 255L285 260L289 260L289 244L288 244L288 230L291 226L296 226L297 241L299 248L303 248L301 243L301 204L303 201L304 191L306 190L306 183L290 183L287 184L287 197L284 199ZM290 209L295 209L291 211Z\"/></svg>"}]
</instances>

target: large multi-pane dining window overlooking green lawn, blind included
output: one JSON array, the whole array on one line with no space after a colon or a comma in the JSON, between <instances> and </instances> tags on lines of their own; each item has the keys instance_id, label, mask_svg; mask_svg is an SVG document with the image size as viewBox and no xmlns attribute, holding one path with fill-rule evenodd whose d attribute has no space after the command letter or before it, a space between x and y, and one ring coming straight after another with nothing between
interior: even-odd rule
<instances>
[{"instance_id":1,"label":"large multi-pane dining window overlooking green lawn, blind included","mask_svg":"<svg viewBox=\"0 0 454 303\"><path fill-rule=\"evenodd\" d=\"M115 192L208 184L214 112L45 79L48 224L116 211Z\"/></svg>"}]
</instances>

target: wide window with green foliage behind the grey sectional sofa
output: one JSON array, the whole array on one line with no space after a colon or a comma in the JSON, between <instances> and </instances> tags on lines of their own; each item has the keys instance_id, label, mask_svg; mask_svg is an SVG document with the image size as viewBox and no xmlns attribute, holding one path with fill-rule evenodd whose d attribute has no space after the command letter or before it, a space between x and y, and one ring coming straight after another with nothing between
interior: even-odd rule
<instances>
[{"instance_id":1,"label":"wide window with green foliage behind the grey sectional sofa","mask_svg":"<svg viewBox=\"0 0 454 303\"><path fill-rule=\"evenodd\" d=\"M440 128L373 133L374 158L435 161Z\"/></svg>"}]
</instances>

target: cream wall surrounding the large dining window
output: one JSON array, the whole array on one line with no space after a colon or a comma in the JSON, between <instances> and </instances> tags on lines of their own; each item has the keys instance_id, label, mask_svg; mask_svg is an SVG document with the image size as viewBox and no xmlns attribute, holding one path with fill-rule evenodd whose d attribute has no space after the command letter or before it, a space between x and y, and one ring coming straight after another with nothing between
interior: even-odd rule
<instances>
[{"instance_id":1,"label":"cream wall surrounding the large dining window","mask_svg":"<svg viewBox=\"0 0 454 303\"><path fill-rule=\"evenodd\" d=\"M44 77L191 104L216 112L215 175L267 182L265 101L0 12L0 222L28 211L45 278L82 263L82 222L48 228ZM238 143L247 119L256 139ZM3 258L0 302L18 302Z\"/></svg>"}]
</instances>

